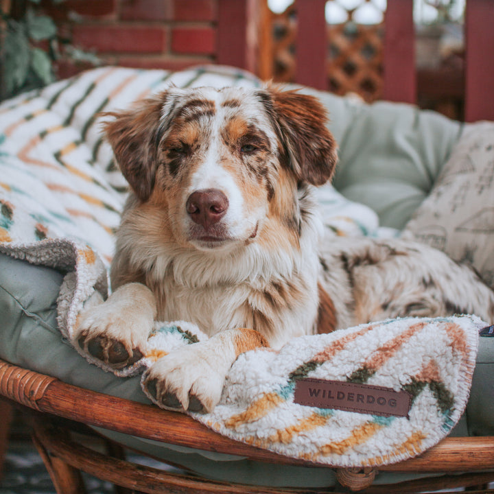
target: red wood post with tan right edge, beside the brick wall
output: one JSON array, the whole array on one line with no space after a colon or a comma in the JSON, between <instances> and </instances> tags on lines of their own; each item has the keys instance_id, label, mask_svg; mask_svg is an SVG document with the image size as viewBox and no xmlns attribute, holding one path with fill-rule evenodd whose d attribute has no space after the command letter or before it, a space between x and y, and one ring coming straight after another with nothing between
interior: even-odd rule
<instances>
[{"instance_id":1,"label":"red wood post with tan right edge, beside the brick wall","mask_svg":"<svg viewBox=\"0 0 494 494\"><path fill-rule=\"evenodd\" d=\"M255 72L257 0L217 1L218 64Z\"/></svg>"}]
</instances>

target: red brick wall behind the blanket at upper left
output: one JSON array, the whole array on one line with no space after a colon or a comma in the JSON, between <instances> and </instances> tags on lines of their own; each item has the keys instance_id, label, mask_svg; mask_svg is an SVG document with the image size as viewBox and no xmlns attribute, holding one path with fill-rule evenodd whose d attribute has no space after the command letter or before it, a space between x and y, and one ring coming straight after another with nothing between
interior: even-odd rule
<instances>
[{"instance_id":1,"label":"red brick wall behind the blanket at upper left","mask_svg":"<svg viewBox=\"0 0 494 494\"><path fill-rule=\"evenodd\" d=\"M179 70L220 61L217 21L224 1L232 0L67 0L50 13L73 45L104 62ZM61 76L75 71L72 64L60 67Z\"/></svg>"}]
</instances>

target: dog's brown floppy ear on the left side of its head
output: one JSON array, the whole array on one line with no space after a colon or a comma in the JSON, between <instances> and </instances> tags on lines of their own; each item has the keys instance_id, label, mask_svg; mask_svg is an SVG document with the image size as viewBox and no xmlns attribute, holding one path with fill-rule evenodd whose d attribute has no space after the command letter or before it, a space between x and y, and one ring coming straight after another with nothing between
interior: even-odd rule
<instances>
[{"instance_id":1,"label":"dog's brown floppy ear on the left side of its head","mask_svg":"<svg viewBox=\"0 0 494 494\"><path fill-rule=\"evenodd\" d=\"M165 99L166 92L144 99L129 110L104 114L113 117L104 123L106 139L122 174L141 201L148 200L154 188L158 132Z\"/></svg>"}]
</instances>

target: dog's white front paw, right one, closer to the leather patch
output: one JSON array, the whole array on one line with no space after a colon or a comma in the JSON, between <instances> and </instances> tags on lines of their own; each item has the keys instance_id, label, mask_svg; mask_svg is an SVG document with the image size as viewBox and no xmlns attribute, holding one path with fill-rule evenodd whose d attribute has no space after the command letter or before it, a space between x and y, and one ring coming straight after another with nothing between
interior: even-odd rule
<instances>
[{"instance_id":1,"label":"dog's white front paw, right one, closer to the leather patch","mask_svg":"<svg viewBox=\"0 0 494 494\"><path fill-rule=\"evenodd\" d=\"M161 357L143 376L143 387L158 406L189 412L211 412L221 399L231 361L194 343Z\"/></svg>"}]
</instances>

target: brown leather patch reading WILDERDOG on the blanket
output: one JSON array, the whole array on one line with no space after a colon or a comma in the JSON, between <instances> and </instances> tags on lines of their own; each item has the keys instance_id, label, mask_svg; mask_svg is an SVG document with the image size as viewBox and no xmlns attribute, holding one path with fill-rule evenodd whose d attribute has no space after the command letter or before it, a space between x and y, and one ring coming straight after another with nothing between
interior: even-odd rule
<instances>
[{"instance_id":1,"label":"brown leather patch reading WILDERDOG on the blanket","mask_svg":"<svg viewBox=\"0 0 494 494\"><path fill-rule=\"evenodd\" d=\"M408 417L412 395L382 386L307 378L296 381L294 402L361 414Z\"/></svg>"}]
</instances>

